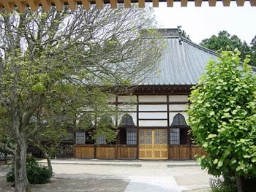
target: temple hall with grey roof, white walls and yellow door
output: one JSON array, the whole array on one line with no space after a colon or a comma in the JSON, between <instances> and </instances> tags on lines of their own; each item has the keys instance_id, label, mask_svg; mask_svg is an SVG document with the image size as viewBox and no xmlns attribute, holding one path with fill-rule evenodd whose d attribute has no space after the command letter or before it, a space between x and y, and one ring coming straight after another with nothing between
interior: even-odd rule
<instances>
[{"instance_id":1,"label":"temple hall with grey roof, white walls and yellow door","mask_svg":"<svg viewBox=\"0 0 256 192\"><path fill-rule=\"evenodd\" d=\"M110 104L121 111L113 120L116 142L104 136L97 145L76 133L75 158L192 159L204 151L192 143L187 125L188 97L216 53L180 37L178 29L161 29L166 43L157 70L137 85L132 96L116 96Z\"/></svg>"}]
</instances>

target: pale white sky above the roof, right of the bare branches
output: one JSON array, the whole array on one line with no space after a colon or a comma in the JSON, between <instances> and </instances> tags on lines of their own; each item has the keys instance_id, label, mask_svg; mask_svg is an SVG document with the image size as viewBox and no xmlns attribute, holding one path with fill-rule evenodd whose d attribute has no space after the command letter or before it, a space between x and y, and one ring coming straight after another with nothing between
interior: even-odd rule
<instances>
[{"instance_id":1,"label":"pale white sky above the roof, right of the bare branches","mask_svg":"<svg viewBox=\"0 0 256 192\"><path fill-rule=\"evenodd\" d=\"M217 7L209 7L208 2L203 2L202 7L195 7L194 2L188 2L188 7L181 7L178 2L173 7L159 3L154 12L161 28L181 26L196 43L223 30L248 44L256 35L256 7L251 7L248 1L244 7L237 7L236 1L230 7L223 7L222 1L217 2Z\"/></svg>"}]
</instances>

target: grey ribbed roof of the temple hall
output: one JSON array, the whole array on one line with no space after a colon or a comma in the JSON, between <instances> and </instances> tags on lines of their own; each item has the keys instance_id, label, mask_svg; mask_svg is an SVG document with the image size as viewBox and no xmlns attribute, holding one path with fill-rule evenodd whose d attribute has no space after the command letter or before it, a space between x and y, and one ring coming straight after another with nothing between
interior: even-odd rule
<instances>
[{"instance_id":1,"label":"grey ribbed roof of the temple hall","mask_svg":"<svg viewBox=\"0 0 256 192\"><path fill-rule=\"evenodd\" d=\"M196 85L208 60L217 58L212 50L182 37L165 37L165 41L158 69L140 85Z\"/></svg>"}]
</instances>

